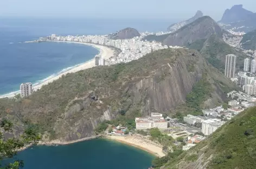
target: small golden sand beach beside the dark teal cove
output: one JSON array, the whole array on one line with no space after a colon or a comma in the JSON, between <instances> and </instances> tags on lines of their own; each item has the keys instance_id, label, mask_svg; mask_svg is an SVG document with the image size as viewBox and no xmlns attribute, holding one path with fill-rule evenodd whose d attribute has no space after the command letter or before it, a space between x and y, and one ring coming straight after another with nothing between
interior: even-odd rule
<instances>
[{"instance_id":1,"label":"small golden sand beach beside the dark teal cove","mask_svg":"<svg viewBox=\"0 0 256 169\"><path fill-rule=\"evenodd\" d=\"M122 142L127 145L135 146L158 157L165 156L165 154L162 152L162 147L160 147L160 145L157 146L155 144L152 144L150 140L146 140L140 135L129 135L126 137L109 135L107 136L107 138Z\"/></svg>"}]
</instances>

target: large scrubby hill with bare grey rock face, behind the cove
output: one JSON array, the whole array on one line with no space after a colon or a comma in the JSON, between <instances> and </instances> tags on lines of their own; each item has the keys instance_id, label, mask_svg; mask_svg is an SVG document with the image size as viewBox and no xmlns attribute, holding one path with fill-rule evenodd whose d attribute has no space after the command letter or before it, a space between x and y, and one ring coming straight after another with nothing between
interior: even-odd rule
<instances>
[{"instance_id":1,"label":"large scrubby hill with bare grey rock face, behind the cove","mask_svg":"<svg viewBox=\"0 0 256 169\"><path fill-rule=\"evenodd\" d=\"M208 95L216 102L225 99L222 87L234 87L197 51L170 48L129 63L67 74L28 98L0 99L1 116L20 119L21 126L38 124L44 140L78 140L93 136L100 122L120 111L134 119L175 109L203 74L213 89Z\"/></svg>"}]
</instances>

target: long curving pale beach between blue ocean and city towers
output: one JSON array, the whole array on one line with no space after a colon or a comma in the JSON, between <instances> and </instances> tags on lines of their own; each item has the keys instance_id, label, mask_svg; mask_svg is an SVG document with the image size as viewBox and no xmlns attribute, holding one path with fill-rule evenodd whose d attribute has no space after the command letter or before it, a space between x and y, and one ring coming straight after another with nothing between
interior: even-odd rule
<instances>
[{"instance_id":1,"label":"long curving pale beach between blue ocean and city towers","mask_svg":"<svg viewBox=\"0 0 256 169\"><path fill-rule=\"evenodd\" d=\"M85 44L87 46L92 46L94 48L99 49L100 53L99 55L101 55L101 58L107 60L110 59L110 57L113 56L114 50L105 46L100 46L98 44L91 44L91 43L82 43L82 42L67 42L67 41L50 41L50 42L59 42L59 43L79 43L79 44ZM46 42L47 43L47 42ZM94 59L91 59L85 63L81 63L76 67L73 67L69 70L67 70L66 72L63 72L61 74L58 74L56 76L50 76L47 79L43 80L40 83L37 83L36 85L33 84L33 88L34 90L40 89L43 85L47 85L50 82L53 82L54 80L59 79L62 75L66 75L67 73L74 73L74 72L78 72L80 70L84 70L84 69L88 69L88 68L92 68L95 66L95 62ZM1 95L0 98L12 98L14 97L16 94L20 93L20 90L16 91L16 92L11 92L5 95Z\"/></svg>"}]
</instances>

